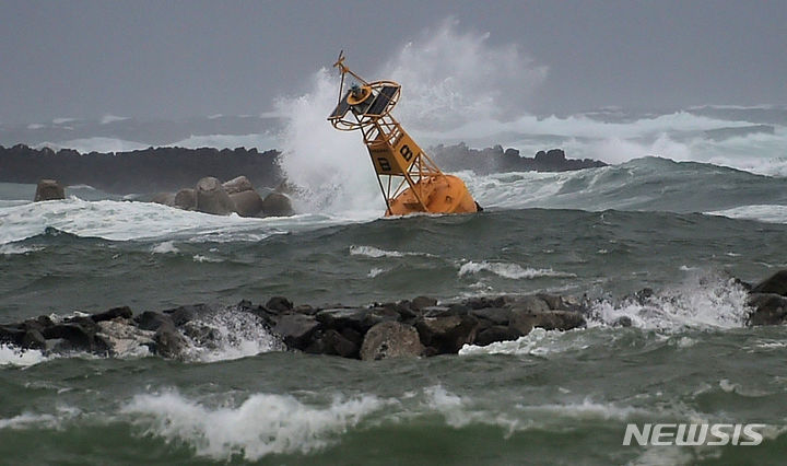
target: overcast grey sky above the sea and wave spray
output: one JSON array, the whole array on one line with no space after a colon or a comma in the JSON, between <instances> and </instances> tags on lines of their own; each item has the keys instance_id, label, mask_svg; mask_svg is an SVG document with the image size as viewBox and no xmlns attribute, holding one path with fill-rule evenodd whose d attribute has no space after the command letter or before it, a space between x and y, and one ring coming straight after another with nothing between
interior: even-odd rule
<instances>
[{"instance_id":1,"label":"overcast grey sky above the sea and wave spray","mask_svg":"<svg viewBox=\"0 0 787 466\"><path fill-rule=\"evenodd\" d=\"M549 68L533 112L787 104L785 0L0 0L0 123L256 115L449 16Z\"/></svg>"}]
</instances>

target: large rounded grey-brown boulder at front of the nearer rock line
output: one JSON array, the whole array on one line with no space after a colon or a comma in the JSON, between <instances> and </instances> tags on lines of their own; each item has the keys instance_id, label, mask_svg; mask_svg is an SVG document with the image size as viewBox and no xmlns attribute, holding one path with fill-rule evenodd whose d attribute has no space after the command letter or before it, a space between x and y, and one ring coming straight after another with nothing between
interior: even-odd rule
<instances>
[{"instance_id":1,"label":"large rounded grey-brown boulder at front of the nearer rock line","mask_svg":"<svg viewBox=\"0 0 787 466\"><path fill-rule=\"evenodd\" d=\"M381 322L366 333L360 356L364 361L376 361L419 357L423 350L419 331L411 325Z\"/></svg>"}]
</instances>

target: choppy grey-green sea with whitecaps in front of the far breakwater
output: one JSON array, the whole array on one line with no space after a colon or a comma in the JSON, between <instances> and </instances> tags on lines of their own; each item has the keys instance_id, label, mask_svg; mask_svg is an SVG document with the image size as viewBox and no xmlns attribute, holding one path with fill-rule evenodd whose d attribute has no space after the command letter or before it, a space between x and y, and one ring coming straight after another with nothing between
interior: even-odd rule
<instances>
[{"instance_id":1,"label":"choppy grey-green sea with whitecaps in front of the far breakwater","mask_svg":"<svg viewBox=\"0 0 787 466\"><path fill-rule=\"evenodd\" d=\"M371 175L371 173L369 173ZM9 464L778 464L787 330L745 291L787 268L787 180L641 158L560 174L460 174L486 207L212 217L87 186L0 185L0 322L197 302L591 300L588 327L459 356L361 362L277 350L227 311L186 361L0 347ZM302 210L303 211L303 210ZM308 211L307 211L308 212ZM638 304L625 296L649 287ZM630 328L610 323L629 316ZM762 423L759 446L624 446L627 423Z\"/></svg>"}]
</instances>

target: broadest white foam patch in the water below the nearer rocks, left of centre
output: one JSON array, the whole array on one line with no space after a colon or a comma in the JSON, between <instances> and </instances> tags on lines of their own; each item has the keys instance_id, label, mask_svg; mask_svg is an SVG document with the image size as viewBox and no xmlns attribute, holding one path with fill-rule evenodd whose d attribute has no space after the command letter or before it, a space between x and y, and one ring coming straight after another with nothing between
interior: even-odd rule
<instances>
[{"instance_id":1,"label":"broadest white foam patch in the water below the nearer rocks, left of centre","mask_svg":"<svg viewBox=\"0 0 787 466\"><path fill-rule=\"evenodd\" d=\"M374 396L319 406L289 395L256 394L235 407L212 407L171 392L138 395L122 413L146 434L183 442L200 456L258 461L324 448L383 406Z\"/></svg>"}]
</instances>

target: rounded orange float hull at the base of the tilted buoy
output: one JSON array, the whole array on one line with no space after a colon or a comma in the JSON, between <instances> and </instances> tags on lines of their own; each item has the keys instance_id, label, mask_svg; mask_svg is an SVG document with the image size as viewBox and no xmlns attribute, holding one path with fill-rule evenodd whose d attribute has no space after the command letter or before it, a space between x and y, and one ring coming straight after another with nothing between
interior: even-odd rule
<instances>
[{"instance_id":1,"label":"rounded orange float hull at the base of the tilted buoy","mask_svg":"<svg viewBox=\"0 0 787 466\"><path fill-rule=\"evenodd\" d=\"M386 217L411 213L472 213L475 200L465 182L454 175L423 177L391 199ZM425 207L425 208L424 208Z\"/></svg>"}]
</instances>

